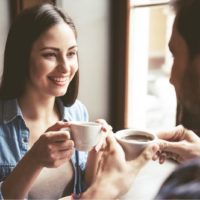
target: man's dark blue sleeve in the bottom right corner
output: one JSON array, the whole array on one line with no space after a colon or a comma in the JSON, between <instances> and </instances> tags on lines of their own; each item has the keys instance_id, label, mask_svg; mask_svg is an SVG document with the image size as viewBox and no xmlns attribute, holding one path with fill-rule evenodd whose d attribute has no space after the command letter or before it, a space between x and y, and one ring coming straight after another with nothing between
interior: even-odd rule
<instances>
[{"instance_id":1,"label":"man's dark blue sleeve in the bottom right corner","mask_svg":"<svg viewBox=\"0 0 200 200\"><path fill-rule=\"evenodd\" d=\"M200 158L189 160L163 183L155 199L199 199Z\"/></svg>"}]
</instances>

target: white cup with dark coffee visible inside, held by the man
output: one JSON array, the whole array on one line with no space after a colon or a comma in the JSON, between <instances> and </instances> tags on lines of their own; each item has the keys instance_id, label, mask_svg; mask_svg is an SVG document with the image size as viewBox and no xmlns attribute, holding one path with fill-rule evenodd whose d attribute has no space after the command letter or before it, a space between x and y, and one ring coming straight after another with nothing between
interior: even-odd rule
<instances>
[{"instance_id":1,"label":"white cup with dark coffee visible inside, held by the man","mask_svg":"<svg viewBox=\"0 0 200 200\"><path fill-rule=\"evenodd\" d=\"M115 133L115 138L124 149L126 160L133 160L155 143L157 136L149 130L123 129Z\"/></svg>"}]
</instances>

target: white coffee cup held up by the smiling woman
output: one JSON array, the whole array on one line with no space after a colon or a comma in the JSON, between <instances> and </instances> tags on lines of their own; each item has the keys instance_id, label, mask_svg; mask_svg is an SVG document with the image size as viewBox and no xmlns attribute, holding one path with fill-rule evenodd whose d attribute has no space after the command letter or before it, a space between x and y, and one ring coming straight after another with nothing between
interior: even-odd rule
<instances>
[{"instance_id":1,"label":"white coffee cup held up by the smiling woman","mask_svg":"<svg viewBox=\"0 0 200 200\"><path fill-rule=\"evenodd\" d=\"M79 151L90 151L100 140L102 125L96 122L70 122L70 136Z\"/></svg>"}]
</instances>

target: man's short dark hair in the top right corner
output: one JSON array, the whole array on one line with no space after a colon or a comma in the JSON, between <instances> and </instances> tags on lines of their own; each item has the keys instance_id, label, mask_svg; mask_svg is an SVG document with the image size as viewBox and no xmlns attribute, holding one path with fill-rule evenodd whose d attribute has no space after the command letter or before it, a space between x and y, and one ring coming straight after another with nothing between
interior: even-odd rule
<instances>
[{"instance_id":1,"label":"man's short dark hair in the top right corner","mask_svg":"<svg viewBox=\"0 0 200 200\"><path fill-rule=\"evenodd\" d=\"M185 40L191 57L200 53L200 1L172 0L176 11L176 27Z\"/></svg>"}]
</instances>

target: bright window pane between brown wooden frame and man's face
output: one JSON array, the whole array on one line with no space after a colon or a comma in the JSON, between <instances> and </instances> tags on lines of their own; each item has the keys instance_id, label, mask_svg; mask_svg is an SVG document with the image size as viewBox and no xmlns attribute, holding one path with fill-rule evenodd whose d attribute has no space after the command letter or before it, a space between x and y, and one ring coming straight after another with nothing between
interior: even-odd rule
<instances>
[{"instance_id":1,"label":"bright window pane between brown wooden frame and man's face","mask_svg":"<svg viewBox=\"0 0 200 200\"><path fill-rule=\"evenodd\" d=\"M169 83L172 58L168 41L173 12L169 1L130 3L127 127L172 127L176 96Z\"/></svg>"}]
</instances>

